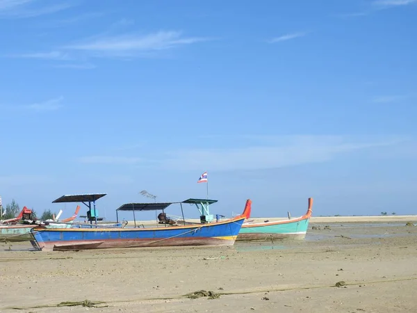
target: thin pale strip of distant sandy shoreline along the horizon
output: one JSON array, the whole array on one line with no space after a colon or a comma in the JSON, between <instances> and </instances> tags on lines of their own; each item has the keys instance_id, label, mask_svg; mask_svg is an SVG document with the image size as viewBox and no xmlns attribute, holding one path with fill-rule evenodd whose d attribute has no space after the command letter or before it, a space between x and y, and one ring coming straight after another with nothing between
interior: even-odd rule
<instances>
[{"instance_id":1,"label":"thin pale strip of distant sandy shoreline along the horizon","mask_svg":"<svg viewBox=\"0 0 417 313\"><path fill-rule=\"evenodd\" d=\"M297 218L299 216L293 216ZM186 219L190 222L199 223L199 219ZM264 220L288 220L288 218L270 218L270 217L254 217L250 218L256 222L263 222ZM382 216L312 216L310 223L417 223L417 215L382 215ZM136 225L149 225L156 223L155 220L136 220ZM134 225L133 220L128 221L128 225Z\"/></svg>"}]
</instances>

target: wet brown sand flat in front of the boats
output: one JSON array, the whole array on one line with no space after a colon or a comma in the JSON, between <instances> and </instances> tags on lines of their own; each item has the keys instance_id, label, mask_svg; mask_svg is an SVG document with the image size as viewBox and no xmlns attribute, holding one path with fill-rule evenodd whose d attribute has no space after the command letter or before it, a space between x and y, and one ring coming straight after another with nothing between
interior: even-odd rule
<instances>
[{"instance_id":1,"label":"wet brown sand flat in front of the boats","mask_svg":"<svg viewBox=\"0 0 417 313\"><path fill-rule=\"evenodd\" d=\"M417 312L416 239L403 222L311 221L304 241L222 248L35 252L2 243L0 312ZM184 296L201 289L220 298ZM85 299L107 307L46 307Z\"/></svg>"}]
</instances>

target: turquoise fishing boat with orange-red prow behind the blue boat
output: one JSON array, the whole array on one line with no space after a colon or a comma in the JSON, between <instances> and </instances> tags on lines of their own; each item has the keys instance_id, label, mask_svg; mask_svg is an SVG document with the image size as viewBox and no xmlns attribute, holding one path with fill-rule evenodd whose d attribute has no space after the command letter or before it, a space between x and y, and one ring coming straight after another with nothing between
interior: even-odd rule
<instances>
[{"instance_id":1,"label":"turquoise fishing boat with orange-red prow behind the blue boat","mask_svg":"<svg viewBox=\"0 0 417 313\"><path fill-rule=\"evenodd\" d=\"M313 207L313 198L309 198L306 214L288 220L264 221L243 223L238 235L238 241L265 240L265 239L304 239Z\"/></svg>"}]
</instances>

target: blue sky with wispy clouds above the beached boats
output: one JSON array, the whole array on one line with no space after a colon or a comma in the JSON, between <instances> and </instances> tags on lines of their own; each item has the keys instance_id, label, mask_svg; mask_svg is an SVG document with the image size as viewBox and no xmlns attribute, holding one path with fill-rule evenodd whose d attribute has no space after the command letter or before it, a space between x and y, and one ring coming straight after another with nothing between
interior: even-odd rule
<instances>
[{"instance_id":1,"label":"blue sky with wispy clouds above the beached boats","mask_svg":"<svg viewBox=\"0 0 417 313\"><path fill-rule=\"evenodd\" d=\"M208 170L213 213L416 213L417 1L0 0L0 29L3 204L114 218Z\"/></svg>"}]
</instances>

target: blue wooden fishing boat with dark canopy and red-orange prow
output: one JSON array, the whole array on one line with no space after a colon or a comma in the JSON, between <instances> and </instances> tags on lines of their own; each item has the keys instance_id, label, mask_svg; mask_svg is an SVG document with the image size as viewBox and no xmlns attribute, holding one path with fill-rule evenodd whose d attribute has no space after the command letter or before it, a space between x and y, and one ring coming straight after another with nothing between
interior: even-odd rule
<instances>
[{"instance_id":1,"label":"blue wooden fishing boat with dark canopy and red-orange prow","mask_svg":"<svg viewBox=\"0 0 417 313\"><path fill-rule=\"evenodd\" d=\"M33 246L42 251L85 250L104 248L142 248L157 246L232 246L236 241L240 227L250 217L251 200L247 200L243 214L229 220L210 221L213 216L202 214L201 223L197 225L180 225L165 219L161 227L137 227L136 211L157 211L165 213L171 204L180 204L183 215L184 203L195 204L200 212L205 213L208 204L213 200L188 199L182 202L163 203L127 203L119 211L133 211L135 225L133 228L97 227L51 229L35 227L31 230ZM215 202L215 200L214 200Z\"/></svg>"}]
</instances>

